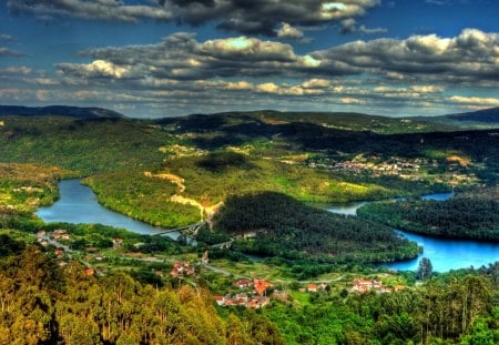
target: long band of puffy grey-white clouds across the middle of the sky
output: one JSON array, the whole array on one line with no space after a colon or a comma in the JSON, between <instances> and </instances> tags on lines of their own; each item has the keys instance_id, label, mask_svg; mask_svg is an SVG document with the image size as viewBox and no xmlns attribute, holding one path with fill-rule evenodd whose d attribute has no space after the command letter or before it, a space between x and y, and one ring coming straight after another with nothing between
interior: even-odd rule
<instances>
[{"instance_id":1,"label":"long band of puffy grey-white clouds across the middle of the sky","mask_svg":"<svg viewBox=\"0 0 499 345\"><path fill-rule=\"evenodd\" d=\"M405 40L355 41L298 54L291 44L248 37L200 42L175 33L157 44L98 48L82 52L90 63L60 63L74 83L120 80L149 87L216 78L330 80L371 75L379 82L422 84L415 92L439 92L437 84L499 84L499 34L467 29L455 38L435 34Z\"/></svg>"}]
</instances>

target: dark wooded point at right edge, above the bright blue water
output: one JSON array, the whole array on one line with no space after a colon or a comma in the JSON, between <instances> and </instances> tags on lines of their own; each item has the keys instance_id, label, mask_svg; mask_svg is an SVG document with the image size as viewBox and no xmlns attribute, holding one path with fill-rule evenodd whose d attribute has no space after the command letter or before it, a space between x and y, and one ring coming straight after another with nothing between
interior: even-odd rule
<instances>
[{"instance_id":1,"label":"dark wooded point at right edge, above the bright blue water","mask_svg":"<svg viewBox=\"0 0 499 345\"><path fill-rule=\"evenodd\" d=\"M373 203L358 214L390 226L438 237L499 242L498 190L468 192L448 201Z\"/></svg>"}]
</instances>

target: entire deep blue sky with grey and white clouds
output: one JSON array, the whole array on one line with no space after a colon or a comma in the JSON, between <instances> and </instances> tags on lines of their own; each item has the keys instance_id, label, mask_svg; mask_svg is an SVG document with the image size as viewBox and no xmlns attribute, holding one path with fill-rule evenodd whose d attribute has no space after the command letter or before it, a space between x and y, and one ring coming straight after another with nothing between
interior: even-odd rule
<instances>
[{"instance_id":1,"label":"entire deep blue sky with grey and white clouds","mask_svg":"<svg viewBox=\"0 0 499 345\"><path fill-rule=\"evenodd\" d=\"M4 0L0 104L133 118L499 106L496 0Z\"/></svg>"}]
</instances>

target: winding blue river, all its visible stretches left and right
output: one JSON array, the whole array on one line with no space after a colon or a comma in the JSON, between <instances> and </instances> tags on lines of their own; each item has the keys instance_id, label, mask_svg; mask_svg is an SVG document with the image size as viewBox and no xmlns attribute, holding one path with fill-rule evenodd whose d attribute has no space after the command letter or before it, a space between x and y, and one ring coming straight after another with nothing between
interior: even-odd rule
<instances>
[{"instance_id":1,"label":"winding blue river, all its visible stretches left and right","mask_svg":"<svg viewBox=\"0 0 499 345\"><path fill-rule=\"evenodd\" d=\"M111 211L99 204L95 194L80 180L65 180L59 183L60 199L48 207L40 209L37 214L47 223L100 223L129 231L153 235L164 230L135 221L121 213ZM445 201L452 194L424 195L421 199ZM322 204L320 207L333 213L356 215L357 210L368 202L354 202L344 204ZM446 272L449 270L479 267L499 261L499 244L476 241L441 240L425 235L416 235L398 231L400 235L416 241L424 247L424 253L411 261L396 262L385 266L394 270L416 270L420 257L431 260L434 271ZM176 239L179 233L169 234Z\"/></svg>"}]
</instances>

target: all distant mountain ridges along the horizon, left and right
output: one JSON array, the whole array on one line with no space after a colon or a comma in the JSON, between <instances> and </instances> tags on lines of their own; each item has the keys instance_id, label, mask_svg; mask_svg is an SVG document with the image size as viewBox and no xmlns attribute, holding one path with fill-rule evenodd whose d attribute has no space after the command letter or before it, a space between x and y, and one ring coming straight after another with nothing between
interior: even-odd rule
<instances>
[{"instance_id":1,"label":"all distant mountain ridges along the horizon, left and right","mask_svg":"<svg viewBox=\"0 0 499 345\"><path fill-rule=\"evenodd\" d=\"M123 119L125 115L103 108L80 108L67 105L16 106L0 105L0 116L70 116L79 120ZM176 122L180 119L194 122L208 122L234 118L253 118L264 122L310 122L354 131L373 131L377 133L434 132L455 130L477 130L499 128L499 106L473 112L448 114L441 116L390 118L360 113L342 112L279 112L272 110L248 112L225 112L211 115L190 115L164 118L159 123ZM215 119L215 120L214 120ZM210 128L212 124L206 123Z\"/></svg>"}]
</instances>

